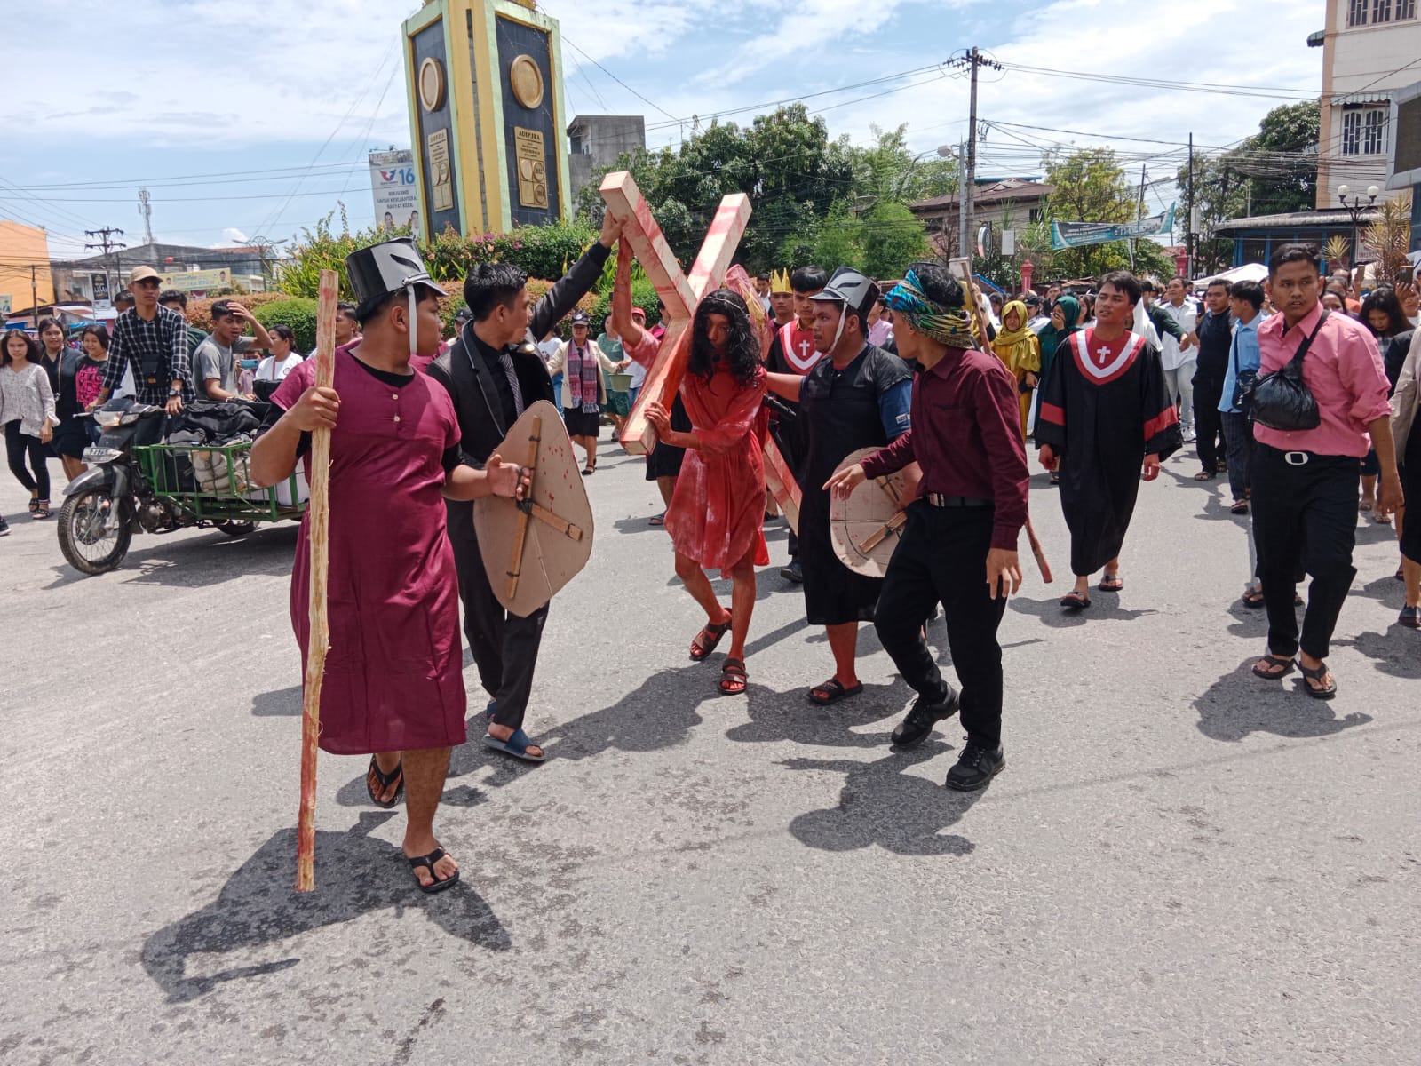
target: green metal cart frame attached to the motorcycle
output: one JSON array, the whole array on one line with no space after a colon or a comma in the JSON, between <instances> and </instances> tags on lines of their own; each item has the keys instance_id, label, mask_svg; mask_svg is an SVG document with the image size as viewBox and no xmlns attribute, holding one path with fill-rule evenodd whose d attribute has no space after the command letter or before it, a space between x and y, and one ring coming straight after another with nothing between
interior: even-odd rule
<instances>
[{"instance_id":1,"label":"green metal cart frame attached to the motorcycle","mask_svg":"<svg viewBox=\"0 0 1421 1066\"><path fill-rule=\"evenodd\" d=\"M138 466L155 496L172 500L186 515L200 522L294 522L306 513L298 499L297 475L270 489L250 486L247 462L250 441L226 445L139 445L134 448ZM219 486L205 490L196 469L210 472ZM291 503L281 503L279 490L286 488ZM266 499L260 499L264 495ZM257 499L254 499L257 497Z\"/></svg>"}]
</instances>

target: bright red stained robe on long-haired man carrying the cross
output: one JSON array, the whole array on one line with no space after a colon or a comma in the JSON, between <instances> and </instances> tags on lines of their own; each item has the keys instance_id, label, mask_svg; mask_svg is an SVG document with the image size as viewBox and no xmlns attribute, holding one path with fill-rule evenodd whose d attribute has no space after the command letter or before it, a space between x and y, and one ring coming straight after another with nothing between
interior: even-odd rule
<instances>
[{"instance_id":1,"label":"bright red stained robe on long-haired man carrying the cross","mask_svg":"<svg viewBox=\"0 0 1421 1066\"><path fill-rule=\"evenodd\" d=\"M661 341L649 333L627 354L649 367ZM676 551L710 570L725 570L753 553L769 566L764 543L764 432L762 401L767 378L759 368L753 385L716 370L710 381L686 374L681 402L701 448L688 448L666 509L666 532Z\"/></svg>"}]
</instances>

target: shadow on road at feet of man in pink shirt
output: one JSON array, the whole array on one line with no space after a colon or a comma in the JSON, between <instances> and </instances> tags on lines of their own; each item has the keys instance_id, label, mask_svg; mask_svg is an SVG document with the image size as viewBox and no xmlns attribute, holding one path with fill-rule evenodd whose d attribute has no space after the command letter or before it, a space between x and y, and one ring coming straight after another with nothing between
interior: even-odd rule
<instances>
[{"instance_id":1,"label":"shadow on road at feet of man in pink shirt","mask_svg":"<svg viewBox=\"0 0 1421 1066\"><path fill-rule=\"evenodd\" d=\"M1360 711L1337 718L1333 714L1336 701L1312 699L1302 691L1306 682L1297 671L1282 682L1253 677L1253 664L1259 658L1249 655L1238 669L1221 677L1194 701L1201 733L1214 741L1242 741L1249 733L1304 739L1330 736L1371 721L1371 715ZM1339 677L1339 689L1343 685L1346 678Z\"/></svg>"}]
</instances>

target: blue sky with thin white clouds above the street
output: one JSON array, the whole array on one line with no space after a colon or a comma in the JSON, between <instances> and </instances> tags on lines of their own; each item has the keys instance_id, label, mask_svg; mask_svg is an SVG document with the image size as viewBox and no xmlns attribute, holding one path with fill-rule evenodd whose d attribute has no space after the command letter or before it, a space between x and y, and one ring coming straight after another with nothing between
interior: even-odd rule
<instances>
[{"instance_id":1,"label":"blue sky with thin white clouds above the street","mask_svg":"<svg viewBox=\"0 0 1421 1066\"><path fill-rule=\"evenodd\" d=\"M831 136L867 144L872 126L905 124L911 148L931 154L965 136L968 82L942 64L976 45L1007 64L982 72L979 178L1039 175L1046 146L1108 145L1131 175L1148 168L1151 213L1175 195L1191 132L1216 151L1322 81L1322 48L1306 45L1322 3L799 0L789 17L746 0L539 7L561 24L570 114L642 114L649 146L689 135L693 117L747 124L807 98ZM171 243L293 237L340 203L352 229L369 225L367 152L409 146L399 40L414 10L47 0L44 26L10 27L26 44L7 54L0 217L45 226L57 259L85 254L84 232L101 226L142 243L139 188L155 239Z\"/></svg>"}]
</instances>

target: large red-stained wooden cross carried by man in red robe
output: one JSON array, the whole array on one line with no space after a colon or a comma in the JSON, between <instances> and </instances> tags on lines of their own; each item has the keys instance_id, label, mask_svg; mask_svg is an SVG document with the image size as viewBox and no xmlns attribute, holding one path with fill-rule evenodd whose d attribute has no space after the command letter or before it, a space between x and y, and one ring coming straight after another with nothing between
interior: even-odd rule
<instances>
[{"instance_id":1,"label":"large red-stained wooden cross carried by man in red robe","mask_svg":"<svg viewBox=\"0 0 1421 1066\"><path fill-rule=\"evenodd\" d=\"M725 280L725 271L745 235L745 225L750 220L750 198L737 192L720 200L701 253L691 266L691 276L686 277L631 173L615 171L607 175L601 193L607 200L607 210L622 225L621 239L631 244L637 262L657 286L657 296L665 307L662 324L666 335L661 338L661 351L647 370L637 407L628 415L621 435L622 448L628 453L647 455L657 443L657 431L647 421L647 404L658 402L669 408L681 388L691 360L691 321L696 304Z\"/></svg>"}]
</instances>

